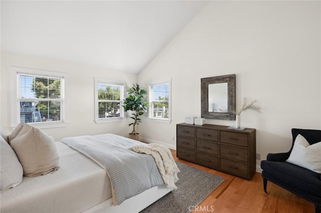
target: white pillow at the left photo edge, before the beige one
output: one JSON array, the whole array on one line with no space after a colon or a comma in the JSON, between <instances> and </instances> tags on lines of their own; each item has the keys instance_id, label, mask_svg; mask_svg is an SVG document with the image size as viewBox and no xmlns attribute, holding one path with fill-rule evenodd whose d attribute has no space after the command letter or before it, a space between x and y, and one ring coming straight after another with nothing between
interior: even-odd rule
<instances>
[{"instance_id":1,"label":"white pillow at the left photo edge, before the beige one","mask_svg":"<svg viewBox=\"0 0 321 213\"><path fill-rule=\"evenodd\" d=\"M0 189L16 187L22 182L24 170L18 157L8 142L1 137L1 175Z\"/></svg>"}]
</instances>

